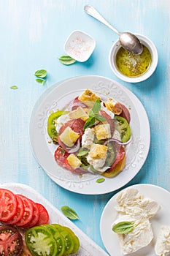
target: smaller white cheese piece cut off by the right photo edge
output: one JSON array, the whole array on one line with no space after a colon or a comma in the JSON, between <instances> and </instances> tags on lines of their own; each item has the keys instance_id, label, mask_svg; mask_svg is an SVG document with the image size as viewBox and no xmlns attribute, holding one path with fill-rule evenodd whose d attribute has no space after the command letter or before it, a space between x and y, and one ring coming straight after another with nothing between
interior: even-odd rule
<instances>
[{"instance_id":1,"label":"smaller white cheese piece cut off by the right photo edge","mask_svg":"<svg viewBox=\"0 0 170 256\"><path fill-rule=\"evenodd\" d=\"M170 227L161 227L155 244L155 254L158 256L170 255Z\"/></svg>"}]
</instances>

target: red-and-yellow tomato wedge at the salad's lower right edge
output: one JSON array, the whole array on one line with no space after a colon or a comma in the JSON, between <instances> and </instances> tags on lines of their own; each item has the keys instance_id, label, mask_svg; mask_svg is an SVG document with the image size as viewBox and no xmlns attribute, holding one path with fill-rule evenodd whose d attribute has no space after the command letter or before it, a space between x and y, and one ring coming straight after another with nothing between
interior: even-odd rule
<instances>
[{"instance_id":1,"label":"red-and-yellow tomato wedge at the salad's lower right edge","mask_svg":"<svg viewBox=\"0 0 170 256\"><path fill-rule=\"evenodd\" d=\"M117 157L115 159L115 162L112 164L109 170L106 170L104 173L102 173L102 175L108 178L112 178L114 176L117 176L117 174L120 173L120 171L123 170L124 167L125 167L125 148L121 146L120 151L117 154Z\"/></svg>"}]
</instances>

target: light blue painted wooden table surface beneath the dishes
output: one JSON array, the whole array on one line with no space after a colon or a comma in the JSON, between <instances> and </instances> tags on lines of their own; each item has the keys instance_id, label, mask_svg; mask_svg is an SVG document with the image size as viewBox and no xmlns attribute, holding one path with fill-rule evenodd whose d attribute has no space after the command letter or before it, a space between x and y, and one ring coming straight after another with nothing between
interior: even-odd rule
<instances>
[{"instance_id":1,"label":"light blue painted wooden table surface beneath the dishes","mask_svg":"<svg viewBox=\"0 0 170 256\"><path fill-rule=\"evenodd\" d=\"M125 83L112 73L108 55L117 34L85 14L91 4L120 31L150 37L158 49L158 67L143 83ZM74 222L93 241L102 244L99 222L107 195L79 195L55 184L37 164L29 142L29 120L37 99L54 83L78 75L101 75L130 89L140 99L150 120L150 152L142 170L129 182L155 184L170 191L170 1L169 0L0 0L0 173L1 182L28 184L55 207L74 208ZM66 67L66 37L75 30L96 39L89 61ZM45 86L34 72L47 69ZM18 89L10 89L10 86Z\"/></svg>"}]
</instances>

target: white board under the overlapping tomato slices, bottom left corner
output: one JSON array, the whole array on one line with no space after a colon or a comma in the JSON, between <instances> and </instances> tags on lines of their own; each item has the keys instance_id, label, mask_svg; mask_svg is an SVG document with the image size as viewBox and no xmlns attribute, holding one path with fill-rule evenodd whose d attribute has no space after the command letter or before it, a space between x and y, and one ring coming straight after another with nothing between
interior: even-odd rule
<instances>
[{"instance_id":1,"label":"white board under the overlapping tomato slices, bottom left corner","mask_svg":"<svg viewBox=\"0 0 170 256\"><path fill-rule=\"evenodd\" d=\"M50 216L50 223L58 223L60 225L70 227L76 236L80 239L80 249L74 256L108 256L107 252L104 252L100 246L98 246L93 240L91 240L85 233L82 232L74 223L66 218L61 211L55 208L49 201L42 197L36 190L25 184L18 183L4 183L0 184L1 188L9 189L14 193L25 195L26 197L34 200L36 203L42 203Z\"/></svg>"}]
</instances>

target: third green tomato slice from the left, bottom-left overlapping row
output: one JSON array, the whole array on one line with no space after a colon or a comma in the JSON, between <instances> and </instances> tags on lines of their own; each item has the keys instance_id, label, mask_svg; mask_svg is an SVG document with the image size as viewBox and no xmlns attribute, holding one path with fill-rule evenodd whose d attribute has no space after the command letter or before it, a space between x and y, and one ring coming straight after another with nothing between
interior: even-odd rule
<instances>
[{"instance_id":1,"label":"third green tomato slice from the left, bottom-left overlapping row","mask_svg":"<svg viewBox=\"0 0 170 256\"><path fill-rule=\"evenodd\" d=\"M52 225L59 231L59 233L61 233L61 235L64 238L65 252L63 253L63 256L72 254L74 250L74 239L72 238L72 234L69 233L69 231L66 230L65 227L59 224L52 224Z\"/></svg>"}]
</instances>

